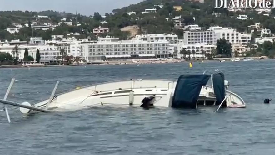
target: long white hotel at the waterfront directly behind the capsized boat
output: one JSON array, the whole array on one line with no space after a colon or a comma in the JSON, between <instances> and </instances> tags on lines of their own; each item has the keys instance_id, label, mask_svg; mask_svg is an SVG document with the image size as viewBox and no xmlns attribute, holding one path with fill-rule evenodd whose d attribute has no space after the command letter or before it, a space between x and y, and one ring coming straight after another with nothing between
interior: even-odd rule
<instances>
[{"instance_id":1,"label":"long white hotel at the waterfront directly behind the capsized boat","mask_svg":"<svg viewBox=\"0 0 275 155\"><path fill-rule=\"evenodd\" d=\"M82 45L82 50L86 52L85 59L94 62L106 59L168 58L168 47L169 42L166 40L149 42L134 39L89 43Z\"/></svg>"}]
</instances>

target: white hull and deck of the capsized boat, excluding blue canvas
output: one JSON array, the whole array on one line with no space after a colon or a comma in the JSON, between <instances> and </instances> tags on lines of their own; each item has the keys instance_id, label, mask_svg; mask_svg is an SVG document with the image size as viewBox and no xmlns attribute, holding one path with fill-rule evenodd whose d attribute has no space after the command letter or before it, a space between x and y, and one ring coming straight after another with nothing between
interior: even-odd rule
<instances>
[{"instance_id":1,"label":"white hull and deck of the capsized boat, excluding blue canvas","mask_svg":"<svg viewBox=\"0 0 275 155\"><path fill-rule=\"evenodd\" d=\"M35 107L56 110L75 111L102 105L129 106L130 91L133 91L133 106L140 106L145 97L155 95L154 106L171 107L177 80L123 80L103 83L76 89L57 95L49 104L45 100ZM227 106L245 106L241 97L226 90ZM215 105L216 98L210 86L203 86L198 98L198 106Z\"/></svg>"}]
</instances>

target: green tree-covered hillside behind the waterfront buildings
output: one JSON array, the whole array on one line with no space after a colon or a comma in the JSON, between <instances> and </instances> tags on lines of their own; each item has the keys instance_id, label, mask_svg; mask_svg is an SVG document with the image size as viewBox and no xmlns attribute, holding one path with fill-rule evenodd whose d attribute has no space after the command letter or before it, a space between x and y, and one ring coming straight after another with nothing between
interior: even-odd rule
<instances>
[{"instance_id":1,"label":"green tree-covered hillside behind the waterfront buildings","mask_svg":"<svg viewBox=\"0 0 275 155\"><path fill-rule=\"evenodd\" d=\"M251 9L242 10L242 12L229 12L224 8L214 8L214 3L215 1L212 0L205 0L205 3L188 0L146 0L121 9L114 9L112 13L106 13L104 15L106 16L105 18L99 13L94 13L93 16L84 16L56 11L2 11L0 12L0 40L20 39L28 41L32 36L48 40L51 39L51 35L66 36L70 33L79 33L80 35L75 36L78 39L87 37L96 39L93 34L93 28L98 28L99 26L110 29L108 34L101 34L102 36L110 35L120 39L129 39L130 32L121 31L121 28L128 26L138 26L138 34L174 33L178 34L180 39L183 39L183 30L174 27L172 18L175 16L181 16L185 24L196 23L200 27L205 28L213 25L233 27L240 32L245 32L247 31L247 26L260 22L265 28L269 28L272 33L275 32L274 9L272 9L272 13L268 17L257 14L255 10ZM163 5L163 7L161 8L158 5ZM173 6L181 6L182 10L176 11ZM156 8L157 12L142 13L145 9L152 8ZM127 12L135 12L136 14L128 15ZM220 13L220 15L216 17L212 13ZM239 20L236 18L239 14L247 14L249 19ZM38 15L48 16L49 18L35 18ZM36 22L37 25L49 22L58 25L62 18L66 18L66 22L70 21L73 25L61 24L47 31L32 31L30 26L25 26L26 24L31 25L33 22ZM12 27L12 23L20 23L23 28L18 33L10 34L5 29Z\"/></svg>"}]
</instances>

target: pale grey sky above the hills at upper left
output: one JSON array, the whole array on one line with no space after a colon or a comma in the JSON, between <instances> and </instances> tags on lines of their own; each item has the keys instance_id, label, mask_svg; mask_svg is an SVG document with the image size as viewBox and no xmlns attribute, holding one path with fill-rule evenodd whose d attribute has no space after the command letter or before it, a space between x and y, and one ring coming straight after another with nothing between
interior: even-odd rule
<instances>
[{"instance_id":1,"label":"pale grey sky above the hills at upper left","mask_svg":"<svg viewBox=\"0 0 275 155\"><path fill-rule=\"evenodd\" d=\"M143 0L0 0L0 11L76 11L83 15L111 13L113 9L136 4Z\"/></svg>"}]
</instances>

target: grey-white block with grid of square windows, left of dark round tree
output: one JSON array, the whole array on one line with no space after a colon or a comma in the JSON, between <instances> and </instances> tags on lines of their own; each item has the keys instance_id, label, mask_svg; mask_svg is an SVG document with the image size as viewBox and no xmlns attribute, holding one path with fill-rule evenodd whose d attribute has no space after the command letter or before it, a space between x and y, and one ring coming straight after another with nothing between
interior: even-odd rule
<instances>
[{"instance_id":1,"label":"grey-white block with grid of square windows, left of dark round tree","mask_svg":"<svg viewBox=\"0 0 275 155\"><path fill-rule=\"evenodd\" d=\"M185 44L216 44L217 42L216 34L210 30L185 31L183 34L183 38Z\"/></svg>"}]
</instances>

